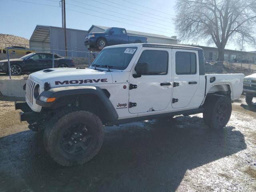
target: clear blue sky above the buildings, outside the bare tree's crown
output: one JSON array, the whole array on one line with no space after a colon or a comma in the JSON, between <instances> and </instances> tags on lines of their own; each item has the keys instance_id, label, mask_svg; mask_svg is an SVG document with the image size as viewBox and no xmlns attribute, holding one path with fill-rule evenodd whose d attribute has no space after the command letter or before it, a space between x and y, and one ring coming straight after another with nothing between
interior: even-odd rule
<instances>
[{"instance_id":1,"label":"clear blue sky above the buildings, outside the bare tree's crown","mask_svg":"<svg viewBox=\"0 0 256 192\"><path fill-rule=\"evenodd\" d=\"M178 36L174 25L175 2L175 0L66 0L66 27L88 30L94 24ZM2 34L29 39L37 24L62 26L59 0L0 0L0 13ZM206 46L204 40L181 43ZM235 49L238 46L231 43L226 48ZM255 49L246 46L246 51L253 50Z\"/></svg>"}]
</instances>

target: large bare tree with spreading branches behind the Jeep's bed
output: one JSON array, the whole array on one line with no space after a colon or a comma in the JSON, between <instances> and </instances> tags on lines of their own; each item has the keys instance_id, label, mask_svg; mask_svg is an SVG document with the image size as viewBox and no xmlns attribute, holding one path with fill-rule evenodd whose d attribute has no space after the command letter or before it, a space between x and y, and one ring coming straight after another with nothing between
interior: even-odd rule
<instances>
[{"instance_id":1,"label":"large bare tree with spreading branches behind the Jeep's bed","mask_svg":"<svg viewBox=\"0 0 256 192\"><path fill-rule=\"evenodd\" d=\"M256 45L256 0L177 0L176 30L183 40L207 40L224 60L228 42Z\"/></svg>"}]
</instances>

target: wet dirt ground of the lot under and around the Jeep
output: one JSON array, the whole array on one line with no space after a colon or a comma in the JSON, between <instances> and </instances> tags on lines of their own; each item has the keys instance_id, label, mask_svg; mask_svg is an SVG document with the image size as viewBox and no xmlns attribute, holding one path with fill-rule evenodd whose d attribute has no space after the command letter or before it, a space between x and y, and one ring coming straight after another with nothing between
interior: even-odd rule
<instances>
[{"instance_id":1,"label":"wet dirt ground of the lot under and around the Jeep","mask_svg":"<svg viewBox=\"0 0 256 192\"><path fill-rule=\"evenodd\" d=\"M202 114L106 127L99 153L73 168L52 162L14 101L0 96L1 192L256 191L256 106L244 98L219 131Z\"/></svg>"}]
</instances>

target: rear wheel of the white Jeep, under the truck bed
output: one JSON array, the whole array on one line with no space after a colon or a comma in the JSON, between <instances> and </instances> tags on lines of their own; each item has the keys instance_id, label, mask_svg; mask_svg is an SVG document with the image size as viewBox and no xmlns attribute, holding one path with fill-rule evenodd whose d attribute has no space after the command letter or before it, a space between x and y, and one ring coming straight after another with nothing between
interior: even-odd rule
<instances>
[{"instance_id":1,"label":"rear wheel of the white Jeep, under the truck bed","mask_svg":"<svg viewBox=\"0 0 256 192\"><path fill-rule=\"evenodd\" d=\"M232 112L231 99L227 96L208 96L204 102L204 123L213 129L224 128Z\"/></svg>"}]
</instances>

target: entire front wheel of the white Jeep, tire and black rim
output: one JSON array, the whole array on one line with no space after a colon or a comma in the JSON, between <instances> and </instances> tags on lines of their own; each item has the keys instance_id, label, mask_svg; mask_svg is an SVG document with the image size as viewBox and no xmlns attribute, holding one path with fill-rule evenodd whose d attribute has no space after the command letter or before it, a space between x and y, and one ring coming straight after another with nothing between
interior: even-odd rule
<instances>
[{"instance_id":1,"label":"entire front wheel of the white Jeep, tire and black rim","mask_svg":"<svg viewBox=\"0 0 256 192\"><path fill-rule=\"evenodd\" d=\"M44 130L48 154L60 165L74 166L92 159L102 146L101 120L87 111L74 111L53 120Z\"/></svg>"}]
</instances>

